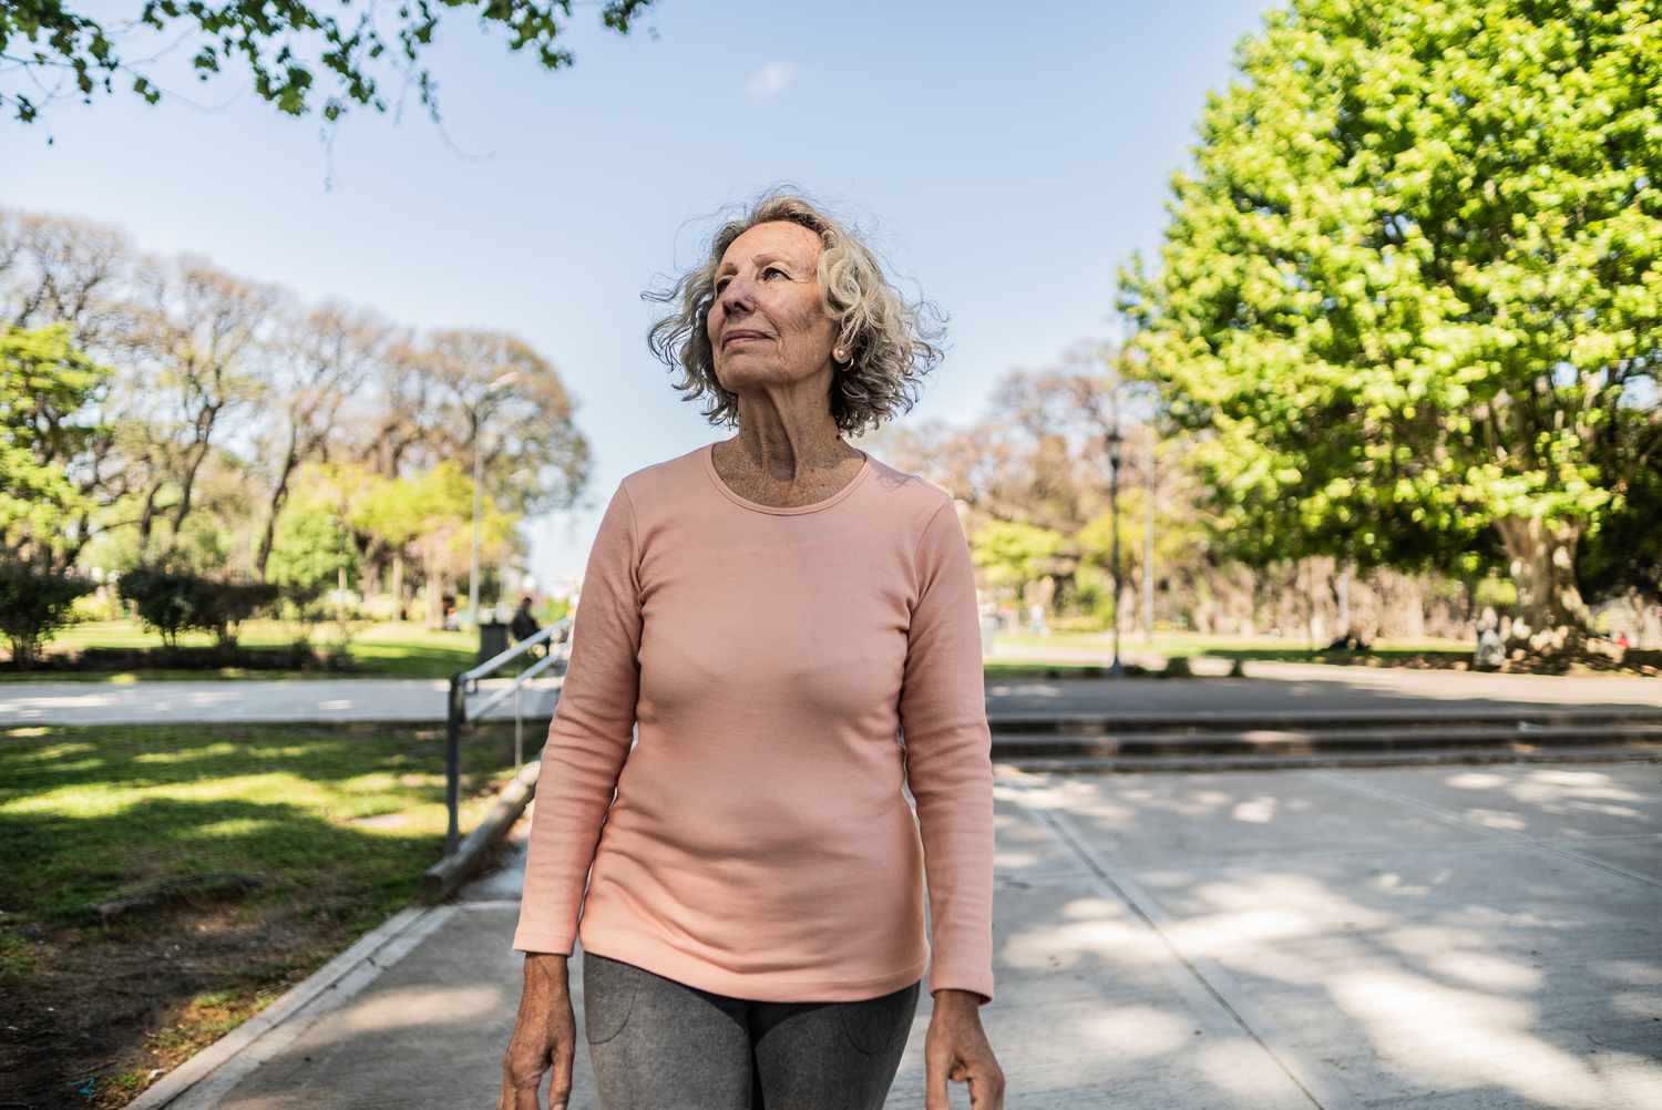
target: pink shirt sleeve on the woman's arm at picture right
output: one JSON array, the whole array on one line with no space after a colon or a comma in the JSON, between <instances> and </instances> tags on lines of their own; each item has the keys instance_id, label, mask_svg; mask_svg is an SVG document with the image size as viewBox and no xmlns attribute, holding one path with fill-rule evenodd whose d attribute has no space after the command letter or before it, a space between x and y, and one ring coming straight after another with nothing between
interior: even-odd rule
<instances>
[{"instance_id":1,"label":"pink shirt sleeve on the woman's arm at picture right","mask_svg":"<svg viewBox=\"0 0 1662 1110\"><path fill-rule=\"evenodd\" d=\"M924 525L901 683L906 784L929 889L929 990L992 1000L992 729L969 540L952 502Z\"/></svg>"}]
</instances>

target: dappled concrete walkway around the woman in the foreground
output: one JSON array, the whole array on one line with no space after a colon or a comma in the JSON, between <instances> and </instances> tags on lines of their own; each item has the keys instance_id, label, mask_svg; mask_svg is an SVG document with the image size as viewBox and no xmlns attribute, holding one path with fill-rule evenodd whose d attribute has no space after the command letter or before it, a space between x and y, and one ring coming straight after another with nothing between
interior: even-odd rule
<instances>
[{"instance_id":1,"label":"dappled concrete walkway around the woman in the foreground","mask_svg":"<svg viewBox=\"0 0 1662 1110\"><path fill-rule=\"evenodd\" d=\"M999 766L997 877L982 1020L1010 1110L1662 1107L1662 763ZM517 891L509 869L412 916L141 1103L494 1105ZM580 950L572 980L582 1020ZM891 1108L924 1105L927 1022L926 995ZM580 1042L572 1108L595 1107Z\"/></svg>"}]
</instances>

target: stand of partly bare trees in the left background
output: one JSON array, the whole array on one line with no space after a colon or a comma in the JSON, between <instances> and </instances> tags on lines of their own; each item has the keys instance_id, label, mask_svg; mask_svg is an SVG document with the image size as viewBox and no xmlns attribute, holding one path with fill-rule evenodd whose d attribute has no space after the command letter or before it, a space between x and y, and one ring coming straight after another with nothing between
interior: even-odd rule
<instances>
[{"instance_id":1,"label":"stand of partly bare trees in the left background","mask_svg":"<svg viewBox=\"0 0 1662 1110\"><path fill-rule=\"evenodd\" d=\"M435 479L462 497L455 512L382 522L364 518L371 490L414 490L440 464L472 470L477 452L484 553L500 567L525 550L514 520L573 505L590 479L560 371L509 332L417 332L336 299L306 306L203 258L143 254L93 221L5 208L0 316L13 321L0 336L0 515L13 525L0 550L45 568L268 578L291 492L329 465L351 470L344 537L294 517L278 577L346 568L354 588L402 598L407 567L450 575L457 550L469 560L472 482L457 494L460 472ZM70 384L81 364L100 367L96 382L65 392L45 377ZM20 515L38 518L27 535ZM294 562L329 543L336 563Z\"/></svg>"}]
</instances>

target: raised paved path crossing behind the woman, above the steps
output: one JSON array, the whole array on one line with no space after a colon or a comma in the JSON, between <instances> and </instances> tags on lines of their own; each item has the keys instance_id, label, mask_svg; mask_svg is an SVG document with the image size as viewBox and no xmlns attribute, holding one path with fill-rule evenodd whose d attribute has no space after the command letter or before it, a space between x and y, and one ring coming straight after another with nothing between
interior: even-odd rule
<instances>
[{"instance_id":1,"label":"raised paved path crossing behind the woman, above the steps","mask_svg":"<svg viewBox=\"0 0 1662 1110\"><path fill-rule=\"evenodd\" d=\"M1546 705L1662 708L1657 678L1556 678L1459 671L1374 670L1310 663L1248 663L1248 678L996 680L987 708L1001 711L1119 710L1228 715L1260 711L1483 711ZM527 716L547 718L558 678L532 680ZM494 683L480 683L490 688ZM166 721L437 721L444 680L3 683L0 724L121 724ZM494 716L510 716L512 703Z\"/></svg>"}]
</instances>

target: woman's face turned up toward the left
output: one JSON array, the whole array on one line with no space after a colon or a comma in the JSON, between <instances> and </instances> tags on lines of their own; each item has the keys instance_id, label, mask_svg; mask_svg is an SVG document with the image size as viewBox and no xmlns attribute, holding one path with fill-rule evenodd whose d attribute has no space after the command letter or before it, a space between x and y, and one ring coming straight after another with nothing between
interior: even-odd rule
<instances>
[{"instance_id":1,"label":"woman's face turned up toward the left","mask_svg":"<svg viewBox=\"0 0 1662 1110\"><path fill-rule=\"evenodd\" d=\"M788 221L733 239L716 268L708 334L716 377L733 392L826 369L836 319L819 287L819 236Z\"/></svg>"}]
</instances>

